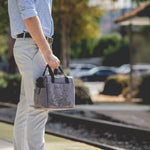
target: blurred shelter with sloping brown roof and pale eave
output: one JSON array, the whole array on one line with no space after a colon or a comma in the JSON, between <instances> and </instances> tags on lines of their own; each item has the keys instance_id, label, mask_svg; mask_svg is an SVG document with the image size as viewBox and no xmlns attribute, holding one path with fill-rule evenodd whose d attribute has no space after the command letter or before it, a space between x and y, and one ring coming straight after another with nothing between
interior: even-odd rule
<instances>
[{"instance_id":1,"label":"blurred shelter with sloping brown roof and pale eave","mask_svg":"<svg viewBox=\"0 0 150 150\"><path fill-rule=\"evenodd\" d=\"M150 2L143 2L138 7L125 13L115 21L119 25L130 26L130 51L132 52L132 63L150 63L149 12Z\"/></svg>"}]
</instances>

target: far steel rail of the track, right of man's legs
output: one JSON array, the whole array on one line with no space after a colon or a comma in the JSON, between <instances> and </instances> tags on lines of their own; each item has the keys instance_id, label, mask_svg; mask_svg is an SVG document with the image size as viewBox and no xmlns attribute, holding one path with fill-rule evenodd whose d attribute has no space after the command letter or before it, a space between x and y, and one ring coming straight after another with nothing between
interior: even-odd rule
<instances>
[{"instance_id":1,"label":"far steel rail of the track, right of man's legs","mask_svg":"<svg viewBox=\"0 0 150 150\"><path fill-rule=\"evenodd\" d=\"M117 129L117 131L128 131L136 134L144 134L147 136L150 136L150 130L141 128L141 127L136 127L136 126L131 126L131 125L124 125L121 123L115 123L111 121L105 121L105 120L100 120L100 119L92 119L92 118L87 118L87 117L80 117L77 115L69 115L69 114L64 114L64 113L59 113L59 112L50 112L51 117L55 117L55 119L59 120L64 120L64 121L69 121L69 122L78 122L78 123L84 123L88 126L94 126L94 127L104 127L105 129L111 128L111 130Z\"/></svg>"}]
</instances>

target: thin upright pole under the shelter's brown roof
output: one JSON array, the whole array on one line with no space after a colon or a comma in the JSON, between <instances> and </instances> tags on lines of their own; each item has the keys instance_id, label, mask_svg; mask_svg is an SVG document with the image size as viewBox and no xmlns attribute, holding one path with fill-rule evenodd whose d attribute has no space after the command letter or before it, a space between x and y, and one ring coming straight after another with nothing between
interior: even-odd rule
<instances>
[{"instance_id":1,"label":"thin upright pole under the shelter's brown roof","mask_svg":"<svg viewBox=\"0 0 150 150\"><path fill-rule=\"evenodd\" d=\"M130 52L129 52L129 59L130 59L130 97L129 100L132 101L132 90L133 90L133 56L132 56L132 24L129 25L129 47L130 47Z\"/></svg>"}]
</instances>

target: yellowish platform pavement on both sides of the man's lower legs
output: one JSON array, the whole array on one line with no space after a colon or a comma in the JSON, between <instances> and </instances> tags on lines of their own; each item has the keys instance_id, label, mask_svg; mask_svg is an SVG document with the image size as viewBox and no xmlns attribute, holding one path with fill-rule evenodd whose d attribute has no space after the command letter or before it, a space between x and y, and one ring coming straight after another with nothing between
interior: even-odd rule
<instances>
[{"instance_id":1,"label":"yellowish platform pavement on both sides of the man's lower legs","mask_svg":"<svg viewBox=\"0 0 150 150\"><path fill-rule=\"evenodd\" d=\"M13 150L13 126L0 122L0 150ZM84 143L45 134L46 150L102 150Z\"/></svg>"}]
</instances>

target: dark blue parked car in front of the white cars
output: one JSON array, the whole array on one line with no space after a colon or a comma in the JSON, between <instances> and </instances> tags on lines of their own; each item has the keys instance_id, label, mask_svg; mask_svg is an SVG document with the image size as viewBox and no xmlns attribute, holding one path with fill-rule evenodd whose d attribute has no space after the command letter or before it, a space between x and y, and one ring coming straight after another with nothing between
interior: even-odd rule
<instances>
[{"instance_id":1,"label":"dark blue parked car in front of the white cars","mask_svg":"<svg viewBox=\"0 0 150 150\"><path fill-rule=\"evenodd\" d=\"M116 70L112 67L95 67L86 73L78 74L77 77L83 81L104 81L108 76L116 74Z\"/></svg>"}]
</instances>

